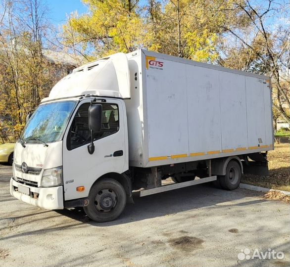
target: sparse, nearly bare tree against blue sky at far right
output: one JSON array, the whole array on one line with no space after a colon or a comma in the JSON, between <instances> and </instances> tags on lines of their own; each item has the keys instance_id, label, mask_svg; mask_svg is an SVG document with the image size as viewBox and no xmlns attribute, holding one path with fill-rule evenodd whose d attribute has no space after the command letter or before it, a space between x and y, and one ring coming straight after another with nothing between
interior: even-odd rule
<instances>
[{"instance_id":1,"label":"sparse, nearly bare tree against blue sky at far right","mask_svg":"<svg viewBox=\"0 0 290 267\"><path fill-rule=\"evenodd\" d=\"M224 38L230 48L220 50L219 63L271 76L273 105L290 123L289 3L267 0L254 5L246 0L235 1L235 6L247 23L221 26L230 34Z\"/></svg>"}]
</instances>

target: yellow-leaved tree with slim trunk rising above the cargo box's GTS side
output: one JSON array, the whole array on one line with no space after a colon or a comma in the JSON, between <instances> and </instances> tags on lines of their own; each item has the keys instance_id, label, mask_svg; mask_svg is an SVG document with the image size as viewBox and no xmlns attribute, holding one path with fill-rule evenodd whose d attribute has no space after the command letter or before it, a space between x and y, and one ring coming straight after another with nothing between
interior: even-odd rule
<instances>
[{"instance_id":1,"label":"yellow-leaved tree with slim trunk rising above the cargo box's GTS side","mask_svg":"<svg viewBox=\"0 0 290 267\"><path fill-rule=\"evenodd\" d=\"M219 23L225 17L214 16L216 5L223 5L223 0L169 0L160 5L149 1L148 24L152 35L150 50L212 62L216 57L215 45ZM155 8L155 10L154 10Z\"/></svg>"}]
</instances>

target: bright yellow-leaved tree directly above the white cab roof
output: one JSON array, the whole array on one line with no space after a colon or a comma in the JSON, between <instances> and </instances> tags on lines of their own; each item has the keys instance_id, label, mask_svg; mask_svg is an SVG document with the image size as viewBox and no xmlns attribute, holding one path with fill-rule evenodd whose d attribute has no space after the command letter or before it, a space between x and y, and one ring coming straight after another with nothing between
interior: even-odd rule
<instances>
[{"instance_id":1,"label":"bright yellow-leaved tree directly above the white cab roof","mask_svg":"<svg viewBox=\"0 0 290 267\"><path fill-rule=\"evenodd\" d=\"M87 59L141 47L144 24L138 0L83 0L89 14L73 13L63 27L62 44Z\"/></svg>"}]
</instances>

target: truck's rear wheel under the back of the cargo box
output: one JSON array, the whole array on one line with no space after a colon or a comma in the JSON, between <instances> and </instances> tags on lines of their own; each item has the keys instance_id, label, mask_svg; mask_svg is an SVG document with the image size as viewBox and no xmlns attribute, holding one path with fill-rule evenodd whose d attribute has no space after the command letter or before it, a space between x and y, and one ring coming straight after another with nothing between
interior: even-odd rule
<instances>
[{"instance_id":1,"label":"truck's rear wheel under the back of the cargo box","mask_svg":"<svg viewBox=\"0 0 290 267\"><path fill-rule=\"evenodd\" d=\"M240 164L237 161L231 160L226 169L226 175L219 176L219 182L223 189L235 190L239 187L242 177Z\"/></svg>"}]
</instances>

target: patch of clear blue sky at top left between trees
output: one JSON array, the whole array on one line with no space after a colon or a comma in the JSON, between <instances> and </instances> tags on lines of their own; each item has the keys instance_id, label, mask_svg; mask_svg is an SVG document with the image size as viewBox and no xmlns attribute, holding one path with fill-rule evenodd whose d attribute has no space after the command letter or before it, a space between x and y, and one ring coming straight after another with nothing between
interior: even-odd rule
<instances>
[{"instance_id":1,"label":"patch of clear blue sky at top left between trees","mask_svg":"<svg viewBox=\"0 0 290 267\"><path fill-rule=\"evenodd\" d=\"M79 14L87 12L87 6L84 5L81 0L46 0L45 3L48 6L48 17L50 22L58 28L64 24L67 15L77 10Z\"/></svg>"}]
</instances>

